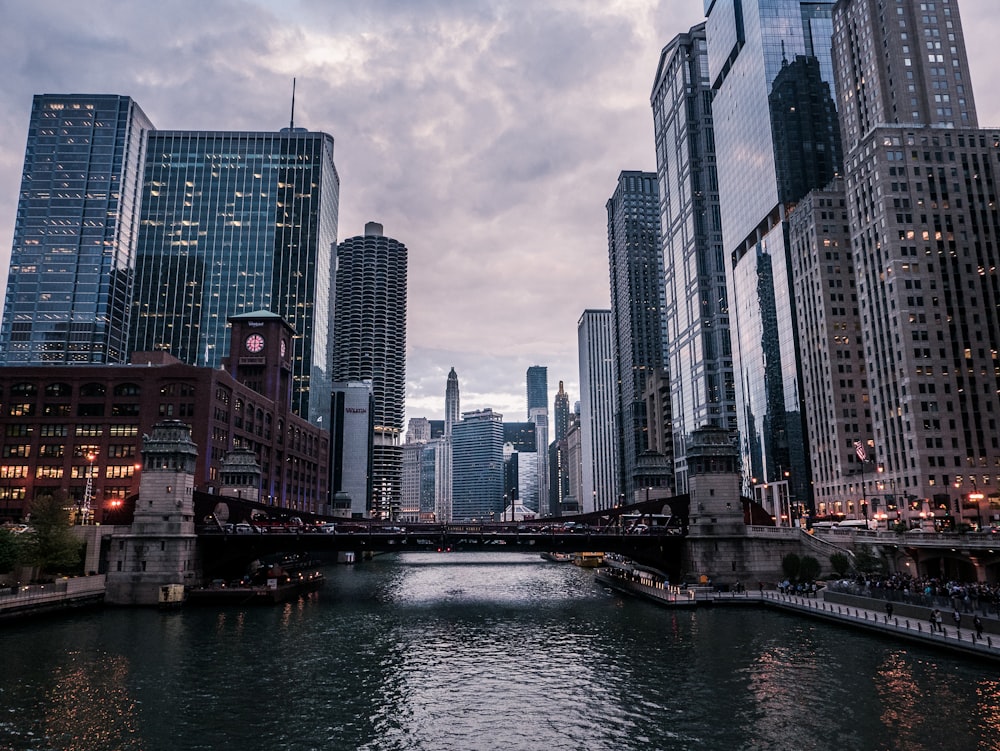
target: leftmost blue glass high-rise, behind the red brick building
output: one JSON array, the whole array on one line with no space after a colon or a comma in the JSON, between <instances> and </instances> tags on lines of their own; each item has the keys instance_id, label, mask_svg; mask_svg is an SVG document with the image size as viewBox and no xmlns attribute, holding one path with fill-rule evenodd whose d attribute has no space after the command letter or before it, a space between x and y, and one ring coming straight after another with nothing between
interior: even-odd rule
<instances>
[{"instance_id":1,"label":"leftmost blue glass high-rise, behind the red brick building","mask_svg":"<svg viewBox=\"0 0 1000 751\"><path fill-rule=\"evenodd\" d=\"M152 127L127 96L34 98L0 363L127 362L139 191ZM223 314L223 326L229 312L236 311Z\"/></svg>"}]
</instances>

